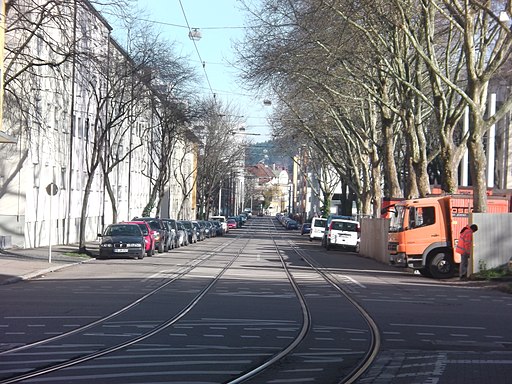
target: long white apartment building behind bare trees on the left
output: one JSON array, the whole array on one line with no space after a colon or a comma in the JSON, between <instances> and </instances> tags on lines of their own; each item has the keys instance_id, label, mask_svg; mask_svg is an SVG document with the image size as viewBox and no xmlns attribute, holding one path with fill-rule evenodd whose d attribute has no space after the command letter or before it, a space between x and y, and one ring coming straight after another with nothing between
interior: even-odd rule
<instances>
[{"instance_id":1,"label":"long white apartment building behind bare trees on the left","mask_svg":"<svg viewBox=\"0 0 512 384\"><path fill-rule=\"evenodd\" d=\"M129 67L131 61L88 1L60 2L33 35L41 12L30 5L45 2L18 3L27 21L20 33L9 28L20 22L19 14L7 14L4 65L10 83L3 123L17 143L0 144L0 247L77 243L81 225L86 240L94 240L115 216L130 220L146 206L156 172L150 133L158 123L149 103L139 98L123 104L126 95L112 90L113 77L126 81L114 65ZM48 62L55 65L34 65ZM149 95L151 89L141 92ZM116 121L121 108L130 113ZM177 139L173 156L193 174L195 154L187 140ZM165 195L172 204L152 214L191 218L195 196L182 199L182 189L193 191L193 183L193 177L184 185L171 175Z\"/></svg>"}]
</instances>

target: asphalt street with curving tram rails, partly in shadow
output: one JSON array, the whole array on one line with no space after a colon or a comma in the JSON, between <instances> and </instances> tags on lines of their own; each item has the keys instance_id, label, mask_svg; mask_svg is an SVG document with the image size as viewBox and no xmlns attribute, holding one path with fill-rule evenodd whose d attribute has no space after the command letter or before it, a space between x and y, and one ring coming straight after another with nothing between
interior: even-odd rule
<instances>
[{"instance_id":1,"label":"asphalt street with curving tram rails, partly in shadow","mask_svg":"<svg viewBox=\"0 0 512 384\"><path fill-rule=\"evenodd\" d=\"M274 218L0 286L0 384L509 383L512 296Z\"/></svg>"}]
</instances>

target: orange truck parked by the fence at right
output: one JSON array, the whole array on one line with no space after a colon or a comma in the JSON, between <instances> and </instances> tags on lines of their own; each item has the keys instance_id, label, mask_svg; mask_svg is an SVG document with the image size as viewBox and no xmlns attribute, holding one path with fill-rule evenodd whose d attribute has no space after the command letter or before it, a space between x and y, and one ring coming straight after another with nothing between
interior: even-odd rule
<instances>
[{"instance_id":1,"label":"orange truck parked by the fence at right","mask_svg":"<svg viewBox=\"0 0 512 384\"><path fill-rule=\"evenodd\" d=\"M423 276L444 279L458 270L454 252L460 230L473 210L471 195L448 195L397 201L388 208L388 253L392 264ZM488 213L510 212L510 198L487 197Z\"/></svg>"}]
</instances>

